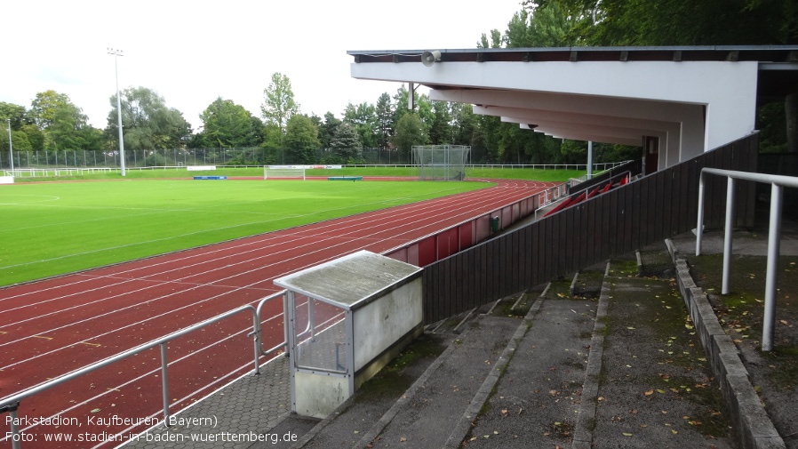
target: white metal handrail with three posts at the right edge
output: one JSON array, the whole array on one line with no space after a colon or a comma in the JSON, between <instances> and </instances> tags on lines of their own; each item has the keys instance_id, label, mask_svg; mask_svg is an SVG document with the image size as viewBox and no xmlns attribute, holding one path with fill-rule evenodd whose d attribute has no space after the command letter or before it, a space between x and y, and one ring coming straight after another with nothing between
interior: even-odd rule
<instances>
[{"instance_id":1,"label":"white metal handrail with three posts at the right edge","mask_svg":"<svg viewBox=\"0 0 798 449\"><path fill-rule=\"evenodd\" d=\"M773 350L773 328L776 325L776 282L778 279L778 243L781 240L781 209L785 187L798 188L798 178L776 174L737 172L718 168L704 168L698 180L698 226L696 227L696 255L701 255L701 236L704 232L704 175L725 176L726 222L723 237L723 278L721 294L729 293L731 269L731 229L734 220L735 180L753 180L770 184L770 230L768 231L768 264L765 278L765 310L762 317L762 350Z\"/></svg>"}]
</instances>

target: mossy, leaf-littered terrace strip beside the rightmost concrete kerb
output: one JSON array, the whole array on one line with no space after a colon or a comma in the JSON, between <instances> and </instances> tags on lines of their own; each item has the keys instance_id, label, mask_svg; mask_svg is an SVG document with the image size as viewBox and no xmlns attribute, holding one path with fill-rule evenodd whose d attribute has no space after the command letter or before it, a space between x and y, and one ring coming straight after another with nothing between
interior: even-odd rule
<instances>
[{"instance_id":1,"label":"mossy, leaf-littered terrace strip beside the rightmost concrete kerb","mask_svg":"<svg viewBox=\"0 0 798 449\"><path fill-rule=\"evenodd\" d=\"M610 264L592 344L601 357L591 361L601 366L590 369L600 375L586 382L574 447L735 447L718 384L668 276L666 248L637 259L647 277L628 260Z\"/></svg>"}]
</instances>

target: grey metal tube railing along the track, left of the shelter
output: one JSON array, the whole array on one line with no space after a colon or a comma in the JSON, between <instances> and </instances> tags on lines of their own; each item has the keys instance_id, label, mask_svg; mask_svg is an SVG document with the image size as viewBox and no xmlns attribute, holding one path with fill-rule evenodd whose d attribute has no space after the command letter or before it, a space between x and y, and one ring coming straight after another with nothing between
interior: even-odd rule
<instances>
[{"instance_id":1,"label":"grey metal tube railing along the track, left of the shelter","mask_svg":"<svg viewBox=\"0 0 798 449\"><path fill-rule=\"evenodd\" d=\"M156 346L161 347L161 389L162 389L163 404L164 404L164 425L166 425L166 423L169 421L169 416L170 416L169 415L169 366L166 354L166 349L169 342L178 337L186 335L187 333L192 333L196 330L202 329L205 326L218 323L219 321L222 321L228 317L233 317L241 313L249 312L252 315L252 332L248 333L247 337L253 337L254 340L254 369L252 373L257 375L260 373L260 360L259 360L260 357L268 356L279 349L286 349L286 341L288 339L287 335L285 334L283 334L282 343L276 345L274 348L267 350L264 350L262 348L262 341L260 338L261 337L260 323L262 321L260 317L261 309L263 309L263 306L268 301L274 301L277 298L283 298L283 310L284 310L286 299L285 299L285 291L282 290L280 292L271 294L266 298L260 300L257 307L252 307L247 305L247 306L242 306L238 309L227 311L223 314L217 315L216 317L208 318L200 323L197 323L196 325L190 325L184 329L180 329L180 331L169 333L159 339L149 341L148 343L144 343L132 349L128 349L124 352L117 354L116 356L108 357L104 360L100 360L100 362L93 363L92 365L86 365L83 368L79 368L76 371L73 371L72 373L64 374L60 377L52 379L51 381L46 381L44 383L41 383L36 387L26 389L10 397L4 397L2 400L0 400L0 413L10 414L11 419L4 421L11 423L10 434L12 437L0 438L0 441L6 441L7 439L11 439L13 449L20 449L22 438L20 438L20 426L19 426L20 420L17 414L17 410L20 408L20 404L23 400L27 399L28 397L32 397L39 393L42 393L48 389L52 389L53 387L59 386L68 381L75 380L86 374L97 371L105 366L113 365L116 362L120 362L127 357L135 356L136 354L139 354L140 352L145 351L147 349L153 349ZM312 332L312 330L309 329L309 324L308 324L308 329L306 329L304 333L307 332Z\"/></svg>"}]
</instances>

